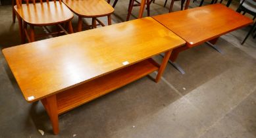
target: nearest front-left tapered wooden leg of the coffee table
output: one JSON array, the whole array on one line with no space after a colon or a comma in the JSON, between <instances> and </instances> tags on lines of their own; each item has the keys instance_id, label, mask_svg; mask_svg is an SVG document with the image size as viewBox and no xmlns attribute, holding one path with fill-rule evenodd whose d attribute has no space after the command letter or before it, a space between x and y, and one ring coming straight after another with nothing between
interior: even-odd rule
<instances>
[{"instance_id":1,"label":"nearest front-left tapered wooden leg of the coffee table","mask_svg":"<svg viewBox=\"0 0 256 138\"><path fill-rule=\"evenodd\" d=\"M56 95L51 95L50 97L41 99L41 103L45 106L45 110L50 117L51 124L53 126L53 133L57 135L59 133L59 119Z\"/></svg>"}]
</instances>

